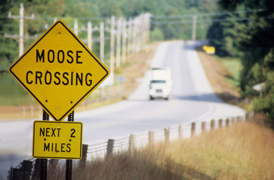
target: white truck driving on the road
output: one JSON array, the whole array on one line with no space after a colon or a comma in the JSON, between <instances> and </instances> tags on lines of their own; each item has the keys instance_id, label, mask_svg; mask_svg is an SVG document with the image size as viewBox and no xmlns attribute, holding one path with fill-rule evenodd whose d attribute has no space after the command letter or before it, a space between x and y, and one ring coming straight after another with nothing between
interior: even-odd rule
<instances>
[{"instance_id":1,"label":"white truck driving on the road","mask_svg":"<svg viewBox=\"0 0 274 180\"><path fill-rule=\"evenodd\" d=\"M171 93L171 68L151 68L149 70L149 99L168 100Z\"/></svg>"}]
</instances>

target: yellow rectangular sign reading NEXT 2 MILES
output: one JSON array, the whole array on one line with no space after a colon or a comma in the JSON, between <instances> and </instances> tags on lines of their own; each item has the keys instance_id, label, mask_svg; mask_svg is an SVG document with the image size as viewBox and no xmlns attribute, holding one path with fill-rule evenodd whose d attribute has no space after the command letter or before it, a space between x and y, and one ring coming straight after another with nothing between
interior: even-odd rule
<instances>
[{"instance_id":1,"label":"yellow rectangular sign reading NEXT 2 MILES","mask_svg":"<svg viewBox=\"0 0 274 180\"><path fill-rule=\"evenodd\" d=\"M81 159L80 122L34 121L32 156L45 159Z\"/></svg>"}]
</instances>

